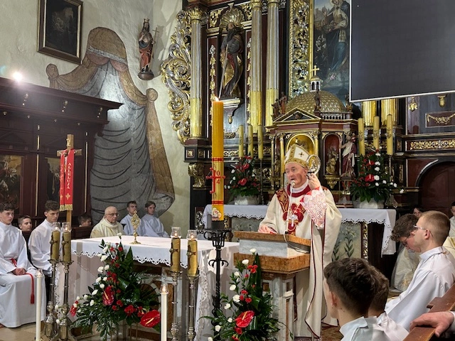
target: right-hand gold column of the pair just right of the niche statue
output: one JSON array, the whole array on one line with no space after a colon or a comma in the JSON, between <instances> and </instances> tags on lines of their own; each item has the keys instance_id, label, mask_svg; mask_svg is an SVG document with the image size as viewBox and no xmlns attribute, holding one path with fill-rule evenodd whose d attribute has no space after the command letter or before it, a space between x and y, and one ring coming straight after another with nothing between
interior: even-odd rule
<instances>
[{"instance_id":1,"label":"right-hand gold column of the pair just right of the niche statue","mask_svg":"<svg viewBox=\"0 0 455 341\"><path fill-rule=\"evenodd\" d=\"M278 92L278 5L279 0L267 3L267 74L265 90L265 125L272 125L272 104L279 98ZM283 112L284 114L284 112Z\"/></svg>"}]
</instances>

